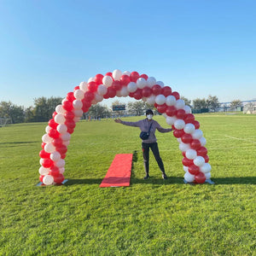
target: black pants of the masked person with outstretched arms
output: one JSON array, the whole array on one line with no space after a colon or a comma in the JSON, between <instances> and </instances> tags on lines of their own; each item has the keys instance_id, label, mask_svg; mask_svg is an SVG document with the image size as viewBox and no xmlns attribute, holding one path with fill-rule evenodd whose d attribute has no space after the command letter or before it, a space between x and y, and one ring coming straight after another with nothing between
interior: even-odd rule
<instances>
[{"instance_id":1,"label":"black pants of the masked person with outstretched arms","mask_svg":"<svg viewBox=\"0 0 256 256\"><path fill-rule=\"evenodd\" d=\"M149 148L151 148L154 158L157 161L158 166L162 173L165 173L165 167L162 159L160 158L159 149L157 143L143 143L143 159L144 159L144 167L145 172L148 174L149 172Z\"/></svg>"}]
</instances>

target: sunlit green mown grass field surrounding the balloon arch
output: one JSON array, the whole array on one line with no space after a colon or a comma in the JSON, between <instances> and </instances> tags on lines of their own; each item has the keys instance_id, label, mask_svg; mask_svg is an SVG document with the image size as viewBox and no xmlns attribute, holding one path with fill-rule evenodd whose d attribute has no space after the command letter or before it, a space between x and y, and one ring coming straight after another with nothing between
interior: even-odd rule
<instances>
[{"instance_id":1,"label":"sunlit green mown grass field surrounding the balloon arch","mask_svg":"<svg viewBox=\"0 0 256 256\"><path fill-rule=\"evenodd\" d=\"M47 124L0 128L0 255L256 255L256 116L195 118L214 185L184 184L177 139L160 132L169 178L151 154L144 181L139 130L109 119L79 122L65 159L68 182L37 187ZM135 151L131 186L100 189L114 155Z\"/></svg>"}]
</instances>

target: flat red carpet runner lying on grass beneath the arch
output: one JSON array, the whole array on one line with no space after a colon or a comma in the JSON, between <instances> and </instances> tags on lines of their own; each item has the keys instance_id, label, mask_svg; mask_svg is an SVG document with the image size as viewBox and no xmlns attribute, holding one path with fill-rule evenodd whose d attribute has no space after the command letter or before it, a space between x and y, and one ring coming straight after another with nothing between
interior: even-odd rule
<instances>
[{"instance_id":1,"label":"flat red carpet runner lying on grass beneath the arch","mask_svg":"<svg viewBox=\"0 0 256 256\"><path fill-rule=\"evenodd\" d=\"M130 186L131 164L132 154L116 154L100 187Z\"/></svg>"}]
</instances>

